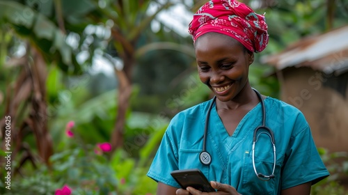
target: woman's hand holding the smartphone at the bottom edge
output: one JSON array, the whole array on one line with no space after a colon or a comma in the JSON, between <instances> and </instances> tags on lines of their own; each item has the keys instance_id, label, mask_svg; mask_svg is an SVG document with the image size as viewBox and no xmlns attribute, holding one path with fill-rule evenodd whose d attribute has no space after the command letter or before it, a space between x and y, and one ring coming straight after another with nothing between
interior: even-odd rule
<instances>
[{"instance_id":1,"label":"woman's hand holding the smartphone at the bottom edge","mask_svg":"<svg viewBox=\"0 0 348 195\"><path fill-rule=\"evenodd\" d=\"M208 194L230 194L230 195L239 195L239 193L237 192L237 190L230 186L230 185L226 185L226 184L221 184L219 182L210 182L210 185L212 185L212 187L214 187L214 189L217 189L217 192L200 192L197 189L194 189L193 187L187 187L187 189L177 189L176 194L177 195L208 195Z\"/></svg>"}]
</instances>

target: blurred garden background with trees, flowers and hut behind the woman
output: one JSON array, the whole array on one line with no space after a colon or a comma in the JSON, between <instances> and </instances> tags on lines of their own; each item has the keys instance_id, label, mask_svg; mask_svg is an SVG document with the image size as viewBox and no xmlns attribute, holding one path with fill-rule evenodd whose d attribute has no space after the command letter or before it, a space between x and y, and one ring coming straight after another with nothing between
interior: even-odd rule
<instances>
[{"instance_id":1,"label":"blurred garden background with trees, flowers and hut behind the woman","mask_svg":"<svg viewBox=\"0 0 348 195\"><path fill-rule=\"evenodd\" d=\"M212 96L187 33L205 2L0 0L0 194L155 194L166 126ZM251 85L308 119L312 194L347 194L348 1L243 2L269 25Z\"/></svg>"}]
</instances>

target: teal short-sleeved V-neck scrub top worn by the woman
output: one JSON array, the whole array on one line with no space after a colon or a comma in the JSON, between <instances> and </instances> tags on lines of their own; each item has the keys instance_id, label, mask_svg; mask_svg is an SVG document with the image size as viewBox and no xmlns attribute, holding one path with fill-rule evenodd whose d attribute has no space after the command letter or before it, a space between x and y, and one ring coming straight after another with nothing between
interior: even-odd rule
<instances>
[{"instance_id":1,"label":"teal short-sleeved V-neck scrub top worn by the woman","mask_svg":"<svg viewBox=\"0 0 348 195\"><path fill-rule=\"evenodd\" d=\"M262 181L253 169L253 132L262 125L260 103L244 116L232 136L213 105L206 146L212 163L201 164L199 154L203 149L205 118L211 101L181 111L171 120L148 171L150 178L180 188L171 177L171 171L200 169L209 181L231 185L240 194L280 194L281 189L310 181L315 184L329 176L301 111L269 97L264 104L266 126L274 132L276 142L274 179ZM270 175L273 164L270 138L267 134L259 134L255 144L255 167L258 173Z\"/></svg>"}]
</instances>

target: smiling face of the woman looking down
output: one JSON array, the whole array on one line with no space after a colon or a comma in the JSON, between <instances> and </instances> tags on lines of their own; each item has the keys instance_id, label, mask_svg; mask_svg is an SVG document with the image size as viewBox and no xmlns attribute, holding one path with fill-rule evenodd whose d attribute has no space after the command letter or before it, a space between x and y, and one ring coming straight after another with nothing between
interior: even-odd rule
<instances>
[{"instance_id":1,"label":"smiling face of the woman looking down","mask_svg":"<svg viewBox=\"0 0 348 195\"><path fill-rule=\"evenodd\" d=\"M196 40L196 61L200 81L222 102L232 100L248 83L253 53L234 38L207 33Z\"/></svg>"}]
</instances>

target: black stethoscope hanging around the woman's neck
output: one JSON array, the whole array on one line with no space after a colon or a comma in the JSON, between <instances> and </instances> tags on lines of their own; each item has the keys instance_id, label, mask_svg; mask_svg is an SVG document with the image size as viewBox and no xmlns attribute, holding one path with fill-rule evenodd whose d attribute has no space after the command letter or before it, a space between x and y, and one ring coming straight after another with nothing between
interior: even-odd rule
<instances>
[{"instance_id":1,"label":"black stethoscope hanging around the woman's neck","mask_svg":"<svg viewBox=\"0 0 348 195\"><path fill-rule=\"evenodd\" d=\"M252 153L253 153L253 168L255 171L255 175L260 179L260 180L269 180L272 178L275 178L274 176L274 170L276 169L276 141L274 140L274 134L273 132L269 129L269 127L266 127L266 109L264 108L264 101L262 99L261 94L255 89L253 88L253 91L255 91L255 93L258 95L258 98L261 102L261 107L262 107L262 125L260 125L259 127L257 127L254 130L254 134L253 134L253 149L252 149ZM202 164L204 165L209 165L212 162L212 156L207 152L206 150L206 141L207 141L207 131L208 131L208 120L209 120L209 115L210 115L210 111L212 110L213 104L216 100L216 96L213 98L212 102L209 105L209 109L207 111L207 116L205 118L205 128L204 128L204 135L203 135L203 150L199 155L199 160ZM273 145L273 153L274 153L274 160L273 160L273 171L271 173L271 175L266 176L262 173L258 173L258 171L256 170L255 167L255 143L258 141L258 138L260 136L260 134L258 134L259 130L266 130L266 132L260 132L260 134L267 134L269 139L271 140L271 143Z\"/></svg>"}]
</instances>

